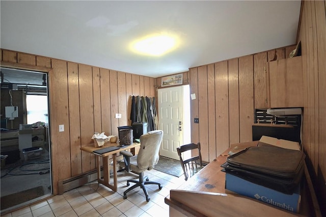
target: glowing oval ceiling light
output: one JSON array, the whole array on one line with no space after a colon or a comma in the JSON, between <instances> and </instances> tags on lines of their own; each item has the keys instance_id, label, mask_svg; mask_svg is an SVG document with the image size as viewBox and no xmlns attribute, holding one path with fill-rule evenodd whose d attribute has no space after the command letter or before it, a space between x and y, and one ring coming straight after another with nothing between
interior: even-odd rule
<instances>
[{"instance_id":1,"label":"glowing oval ceiling light","mask_svg":"<svg viewBox=\"0 0 326 217\"><path fill-rule=\"evenodd\" d=\"M151 35L131 43L131 49L143 55L162 56L176 47L176 38L170 35Z\"/></svg>"}]
</instances>

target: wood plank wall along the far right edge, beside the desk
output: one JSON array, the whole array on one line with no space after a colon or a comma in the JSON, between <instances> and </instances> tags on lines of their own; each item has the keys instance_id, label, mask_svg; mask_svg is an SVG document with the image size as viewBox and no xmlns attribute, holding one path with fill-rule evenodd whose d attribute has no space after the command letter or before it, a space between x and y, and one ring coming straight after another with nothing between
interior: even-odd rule
<instances>
[{"instance_id":1,"label":"wood plank wall along the far right edge, beside the desk","mask_svg":"<svg viewBox=\"0 0 326 217\"><path fill-rule=\"evenodd\" d=\"M303 145L319 206L326 216L326 2L303 1L299 27L304 73Z\"/></svg>"}]
</instances>

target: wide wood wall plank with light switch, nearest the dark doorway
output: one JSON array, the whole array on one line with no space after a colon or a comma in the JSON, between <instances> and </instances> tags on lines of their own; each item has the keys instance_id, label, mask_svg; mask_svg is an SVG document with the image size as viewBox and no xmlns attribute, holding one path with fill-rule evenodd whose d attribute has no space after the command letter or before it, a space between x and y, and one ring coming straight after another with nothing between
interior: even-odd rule
<instances>
[{"instance_id":1,"label":"wide wood wall plank with light switch, nearest the dark doorway","mask_svg":"<svg viewBox=\"0 0 326 217\"><path fill-rule=\"evenodd\" d=\"M52 71L49 72L49 118L51 123L51 165L54 194L58 194L58 181L69 178L71 175L67 77L67 62L53 59ZM60 124L65 126L64 132L59 132Z\"/></svg>"}]
</instances>

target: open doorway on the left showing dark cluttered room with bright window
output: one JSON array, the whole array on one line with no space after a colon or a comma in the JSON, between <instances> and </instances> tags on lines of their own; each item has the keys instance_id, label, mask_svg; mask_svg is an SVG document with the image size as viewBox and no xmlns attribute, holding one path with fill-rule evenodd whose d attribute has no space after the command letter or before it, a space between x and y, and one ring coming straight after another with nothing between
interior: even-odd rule
<instances>
[{"instance_id":1,"label":"open doorway on the left showing dark cluttered room with bright window","mask_svg":"<svg viewBox=\"0 0 326 217\"><path fill-rule=\"evenodd\" d=\"M1 213L52 195L47 73L1 67Z\"/></svg>"}]
</instances>

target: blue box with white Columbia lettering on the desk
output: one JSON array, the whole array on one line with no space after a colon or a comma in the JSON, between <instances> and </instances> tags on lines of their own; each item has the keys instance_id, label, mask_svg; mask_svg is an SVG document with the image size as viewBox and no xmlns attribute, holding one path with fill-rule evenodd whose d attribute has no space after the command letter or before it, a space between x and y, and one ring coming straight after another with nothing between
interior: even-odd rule
<instances>
[{"instance_id":1,"label":"blue box with white Columbia lettering on the desk","mask_svg":"<svg viewBox=\"0 0 326 217\"><path fill-rule=\"evenodd\" d=\"M226 173L225 188L239 195L251 197L292 212L299 212L301 202L300 186L292 195L287 195Z\"/></svg>"}]
</instances>

